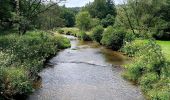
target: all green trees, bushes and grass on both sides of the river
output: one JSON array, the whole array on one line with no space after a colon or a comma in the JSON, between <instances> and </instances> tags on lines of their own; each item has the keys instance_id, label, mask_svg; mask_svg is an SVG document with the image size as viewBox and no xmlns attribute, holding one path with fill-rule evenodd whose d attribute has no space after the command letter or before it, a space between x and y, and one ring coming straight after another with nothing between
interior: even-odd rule
<instances>
[{"instance_id":1,"label":"all green trees, bushes and grass on both sides of the river","mask_svg":"<svg viewBox=\"0 0 170 100\"><path fill-rule=\"evenodd\" d=\"M170 99L170 0L64 1L0 0L0 100L35 91L45 62L70 47L63 34L122 52L124 79L148 100Z\"/></svg>"}]
</instances>

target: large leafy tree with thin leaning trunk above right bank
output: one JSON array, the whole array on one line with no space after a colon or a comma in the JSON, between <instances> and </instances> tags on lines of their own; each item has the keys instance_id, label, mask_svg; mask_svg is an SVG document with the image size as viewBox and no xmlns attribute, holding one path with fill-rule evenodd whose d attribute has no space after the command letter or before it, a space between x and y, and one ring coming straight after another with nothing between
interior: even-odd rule
<instances>
[{"instance_id":1,"label":"large leafy tree with thin leaning trunk above right bank","mask_svg":"<svg viewBox=\"0 0 170 100\"><path fill-rule=\"evenodd\" d=\"M160 8L164 0L126 0L118 7L116 23L139 36L150 36L160 22Z\"/></svg>"}]
</instances>

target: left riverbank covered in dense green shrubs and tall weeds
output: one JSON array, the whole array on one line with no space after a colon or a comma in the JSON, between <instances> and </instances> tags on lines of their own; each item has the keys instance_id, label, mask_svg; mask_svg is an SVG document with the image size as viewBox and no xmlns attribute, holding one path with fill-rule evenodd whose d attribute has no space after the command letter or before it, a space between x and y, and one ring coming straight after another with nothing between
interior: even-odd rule
<instances>
[{"instance_id":1,"label":"left riverbank covered in dense green shrubs and tall weeds","mask_svg":"<svg viewBox=\"0 0 170 100\"><path fill-rule=\"evenodd\" d=\"M43 31L0 36L0 99L34 91L33 81L46 59L70 47L68 39Z\"/></svg>"}]
</instances>

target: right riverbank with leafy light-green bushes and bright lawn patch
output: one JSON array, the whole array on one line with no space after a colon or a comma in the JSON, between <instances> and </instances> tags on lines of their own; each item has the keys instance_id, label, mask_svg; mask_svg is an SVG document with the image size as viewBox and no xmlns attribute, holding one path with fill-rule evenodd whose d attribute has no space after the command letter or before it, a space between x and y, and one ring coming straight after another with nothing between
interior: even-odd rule
<instances>
[{"instance_id":1,"label":"right riverbank with leafy light-green bushes and bright lawn patch","mask_svg":"<svg viewBox=\"0 0 170 100\"><path fill-rule=\"evenodd\" d=\"M124 78L138 84L148 100L170 99L169 41L135 40L122 51L132 56Z\"/></svg>"}]
</instances>

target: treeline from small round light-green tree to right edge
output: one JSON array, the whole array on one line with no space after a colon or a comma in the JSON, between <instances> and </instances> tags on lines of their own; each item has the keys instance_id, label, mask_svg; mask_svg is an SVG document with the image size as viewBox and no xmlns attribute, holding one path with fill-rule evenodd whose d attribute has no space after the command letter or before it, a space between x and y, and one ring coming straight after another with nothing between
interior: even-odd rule
<instances>
[{"instance_id":1,"label":"treeline from small round light-green tree to right edge","mask_svg":"<svg viewBox=\"0 0 170 100\"><path fill-rule=\"evenodd\" d=\"M137 37L170 40L169 9L169 0L124 0L120 5L113 0L96 0L82 8L76 24L83 30L114 26Z\"/></svg>"}]
</instances>

